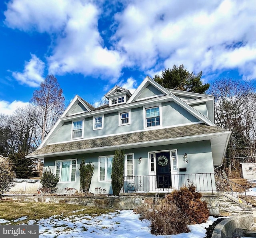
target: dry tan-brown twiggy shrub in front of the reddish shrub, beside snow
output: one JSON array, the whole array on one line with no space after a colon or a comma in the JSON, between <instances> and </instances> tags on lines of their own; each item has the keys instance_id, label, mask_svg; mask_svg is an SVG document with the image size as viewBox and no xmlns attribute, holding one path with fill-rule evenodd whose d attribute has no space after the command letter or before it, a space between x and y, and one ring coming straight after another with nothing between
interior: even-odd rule
<instances>
[{"instance_id":1,"label":"dry tan-brown twiggy shrub in front of the reddish shrub, beside snow","mask_svg":"<svg viewBox=\"0 0 256 238\"><path fill-rule=\"evenodd\" d=\"M173 202L162 199L153 208L140 207L140 220L150 220L151 233L154 235L170 235L189 232L188 216Z\"/></svg>"}]
</instances>

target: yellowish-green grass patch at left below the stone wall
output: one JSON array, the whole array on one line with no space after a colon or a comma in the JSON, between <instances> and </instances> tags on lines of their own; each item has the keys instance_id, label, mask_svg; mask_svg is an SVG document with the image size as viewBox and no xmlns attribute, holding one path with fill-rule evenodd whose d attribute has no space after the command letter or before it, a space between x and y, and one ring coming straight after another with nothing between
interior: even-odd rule
<instances>
[{"instance_id":1,"label":"yellowish-green grass patch at left below the stone wall","mask_svg":"<svg viewBox=\"0 0 256 238\"><path fill-rule=\"evenodd\" d=\"M81 211L81 209L84 209ZM75 210L80 210L74 212ZM72 215L90 215L99 216L108 212L114 212L113 209L85 207L82 205L73 205L66 203L32 203L17 201L0 201L0 218L5 220L14 220L22 216L27 216L27 220L38 220L40 218L49 218L50 216L62 215L62 218ZM26 220L15 222L21 224Z\"/></svg>"}]
</instances>

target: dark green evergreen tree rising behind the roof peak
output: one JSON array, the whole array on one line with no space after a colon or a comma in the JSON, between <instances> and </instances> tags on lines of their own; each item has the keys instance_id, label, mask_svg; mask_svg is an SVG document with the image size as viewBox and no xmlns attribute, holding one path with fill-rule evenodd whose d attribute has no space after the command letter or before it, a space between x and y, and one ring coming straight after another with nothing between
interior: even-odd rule
<instances>
[{"instance_id":1,"label":"dark green evergreen tree rising behind the roof peak","mask_svg":"<svg viewBox=\"0 0 256 238\"><path fill-rule=\"evenodd\" d=\"M195 75L184 68L184 65L172 69L164 69L162 75L155 75L154 81L162 85L166 89L178 89L188 92L205 93L209 89L210 84L203 84L201 81L202 71Z\"/></svg>"}]
</instances>

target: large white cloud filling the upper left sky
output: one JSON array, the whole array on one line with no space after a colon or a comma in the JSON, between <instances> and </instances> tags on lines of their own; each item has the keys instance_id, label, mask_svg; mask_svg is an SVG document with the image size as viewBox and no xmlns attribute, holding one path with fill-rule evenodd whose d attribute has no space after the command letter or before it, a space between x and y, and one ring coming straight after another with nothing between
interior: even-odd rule
<instances>
[{"instance_id":1,"label":"large white cloud filling the upper left sky","mask_svg":"<svg viewBox=\"0 0 256 238\"><path fill-rule=\"evenodd\" d=\"M7 6L7 26L52 36L52 53L47 57L50 74L82 73L112 82L120 77L124 59L104 47L98 31L101 10L96 4L83 0L14 0Z\"/></svg>"}]
</instances>

